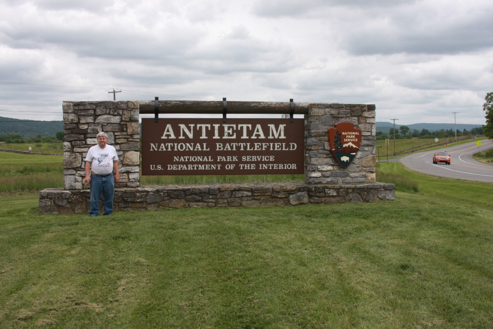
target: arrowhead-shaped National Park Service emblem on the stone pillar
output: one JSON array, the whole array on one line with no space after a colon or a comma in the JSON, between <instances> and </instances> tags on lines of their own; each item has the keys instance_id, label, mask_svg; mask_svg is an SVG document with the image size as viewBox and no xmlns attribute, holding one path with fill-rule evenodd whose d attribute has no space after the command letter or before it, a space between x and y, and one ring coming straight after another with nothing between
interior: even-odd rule
<instances>
[{"instance_id":1,"label":"arrowhead-shaped National Park Service emblem on the stone pillar","mask_svg":"<svg viewBox=\"0 0 493 329\"><path fill-rule=\"evenodd\" d=\"M337 162L347 168L361 145L361 130L354 129L351 122L341 122L329 128L330 151Z\"/></svg>"}]
</instances>

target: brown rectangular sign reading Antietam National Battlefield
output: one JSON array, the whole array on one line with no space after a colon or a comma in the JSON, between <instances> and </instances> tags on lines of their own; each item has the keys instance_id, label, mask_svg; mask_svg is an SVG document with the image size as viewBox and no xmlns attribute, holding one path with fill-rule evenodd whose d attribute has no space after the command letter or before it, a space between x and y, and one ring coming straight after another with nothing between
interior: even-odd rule
<instances>
[{"instance_id":1,"label":"brown rectangular sign reading Antietam National Battlefield","mask_svg":"<svg viewBox=\"0 0 493 329\"><path fill-rule=\"evenodd\" d=\"M304 119L142 119L142 175L304 173Z\"/></svg>"}]
</instances>

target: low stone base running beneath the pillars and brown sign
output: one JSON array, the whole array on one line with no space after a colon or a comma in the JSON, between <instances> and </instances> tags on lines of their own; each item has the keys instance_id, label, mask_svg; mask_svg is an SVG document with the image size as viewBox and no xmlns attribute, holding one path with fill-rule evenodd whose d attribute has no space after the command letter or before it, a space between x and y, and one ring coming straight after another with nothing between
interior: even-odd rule
<instances>
[{"instance_id":1,"label":"low stone base running beneath the pillars and brown sign","mask_svg":"<svg viewBox=\"0 0 493 329\"><path fill-rule=\"evenodd\" d=\"M201 207L298 206L394 200L394 184L321 185L269 183L160 185L115 188L114 211ZM46 188L39 192L39 214L88 213L89 190Z\"/></svg>"}]
</instances>

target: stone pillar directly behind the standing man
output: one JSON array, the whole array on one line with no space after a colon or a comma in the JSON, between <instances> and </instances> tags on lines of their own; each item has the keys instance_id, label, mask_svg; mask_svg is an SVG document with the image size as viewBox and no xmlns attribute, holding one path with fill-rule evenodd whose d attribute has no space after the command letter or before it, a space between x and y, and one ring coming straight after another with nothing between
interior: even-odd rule
<instances>
[{"instance_id":1,"label":"stone pillar directly behind the standing man","mask_svg":"<svg viewBox=\"0 0 493 329\"><path fill-rule=\"evenodd\" d=\"M63 102L64 188L77 190L85 185L85 157L98 144L104 131L108 144L118 154L120 182L116 187L139 187L140 126L139 102Z\"/></svg>"}]
</instances>

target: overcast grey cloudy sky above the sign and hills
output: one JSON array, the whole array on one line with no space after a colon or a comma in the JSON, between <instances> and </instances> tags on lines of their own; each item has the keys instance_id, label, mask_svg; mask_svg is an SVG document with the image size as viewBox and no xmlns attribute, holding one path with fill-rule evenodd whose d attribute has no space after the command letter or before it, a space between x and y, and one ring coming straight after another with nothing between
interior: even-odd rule
<instances>
[{"instance_id":1,"label":"overcast grey cloudy sky above the sign and hills","mask_svg":"<svg viewBox=\"0 0 493 329\"><path fill-rule=\"evenodd\" d=\"M115 89L484 124L492 17L491 0L0 0L0 116L62 120Z\"/></svg>"}]
</instances>

